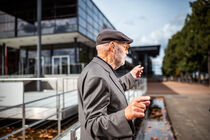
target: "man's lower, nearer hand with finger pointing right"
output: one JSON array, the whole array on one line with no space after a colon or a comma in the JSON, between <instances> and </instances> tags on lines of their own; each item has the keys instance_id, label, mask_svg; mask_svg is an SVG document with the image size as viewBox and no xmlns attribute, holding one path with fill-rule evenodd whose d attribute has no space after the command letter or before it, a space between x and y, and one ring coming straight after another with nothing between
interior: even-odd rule
<instances>
[{"instance_id":1,"label":"man's lower, nearer hand with finger pointing right","mask_svg":"<svg viewBox=\"0 0 210 140\"><path fill-rule=\"evenodd\" d=\"M125 117L127 120L133 120L137 117L144 117L146 106L150 104L149 96L141 96L134 98L128 107L125 108Z\"/></svg>"}]
</instances>

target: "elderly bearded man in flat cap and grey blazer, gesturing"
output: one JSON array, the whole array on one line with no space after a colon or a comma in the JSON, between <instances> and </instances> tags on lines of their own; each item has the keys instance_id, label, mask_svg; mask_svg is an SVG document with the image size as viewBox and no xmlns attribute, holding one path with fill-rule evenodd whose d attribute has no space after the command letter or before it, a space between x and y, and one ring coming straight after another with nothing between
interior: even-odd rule
<instances>
[{"instance_id":1,"label":"elderly bearded man in flat cap and grey blazer, gesturing","mask_svg":"<svg viewBox=\"0 0 210 140\"><path fill-rule=\"evenodd\" d=\"M115 73L124 65L132 42L116 30L105 29L97 36L97 56L84 68L78 80L82 140L134 139L132 120L144 117L150 97L137 97L128 105L125 91L134 86L143 67L134 67L120 79Z\"/></svg>"}]
</instances>

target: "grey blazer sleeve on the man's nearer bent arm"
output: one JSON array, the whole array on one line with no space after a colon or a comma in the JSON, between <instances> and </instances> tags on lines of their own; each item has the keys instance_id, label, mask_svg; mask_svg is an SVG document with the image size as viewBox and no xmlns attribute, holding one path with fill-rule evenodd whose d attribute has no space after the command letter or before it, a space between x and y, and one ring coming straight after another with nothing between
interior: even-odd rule
<instances>
[{"instance_id":1,"label":"grey blazer sleeve on the man's nearer bent arm","mask_svg":"<svg viewBox=\"0 0 210 140\"><path fill-rule=\"evenodd\" d=\"M92 138L131 136L132 131L125 118L124 109L112 114L107 113L111 97L106 81L94 77L86 83L83 96L85 129Z\"/></svg>"}]
</instances>

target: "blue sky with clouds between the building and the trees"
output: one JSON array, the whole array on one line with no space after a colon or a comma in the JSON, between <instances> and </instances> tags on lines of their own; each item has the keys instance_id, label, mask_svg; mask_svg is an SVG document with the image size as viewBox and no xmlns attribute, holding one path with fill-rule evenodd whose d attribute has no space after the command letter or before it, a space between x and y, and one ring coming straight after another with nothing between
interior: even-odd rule
<instances>
[{"instance_id":1,"label":"blue sky with clouds between the building and the trees","mask_svg":"<svg viewBox=\"0 0 210 140\"><path fill-rule=\"evenodd\" d=\"M152 58L153 71L161 66L168 39L181 30L191 14L193 0L92 0L112 25L130 38L131 46L161 45L159 56Z\"/></svg>"}]
</instances>

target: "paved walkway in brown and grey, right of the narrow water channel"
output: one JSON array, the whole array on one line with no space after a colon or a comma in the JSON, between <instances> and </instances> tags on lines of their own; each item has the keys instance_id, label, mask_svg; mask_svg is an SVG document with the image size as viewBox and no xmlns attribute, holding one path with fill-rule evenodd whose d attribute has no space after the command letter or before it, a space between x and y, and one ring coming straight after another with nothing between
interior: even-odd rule
<instances>
[{"instance_id":1,"label":"paved walkway in brown and grey, right of the narrow water channel","mask_svg":"<svg viewBox=\"0 0 210 140\"><path fill-rule=\"evenodd\" d=\"M210 87L181 82L148 83L148 95L163 96L178 140L210 139Z\"/></svg>"}]
</instances>

